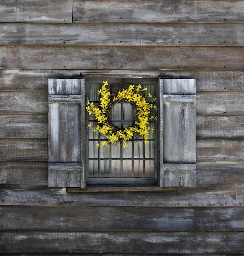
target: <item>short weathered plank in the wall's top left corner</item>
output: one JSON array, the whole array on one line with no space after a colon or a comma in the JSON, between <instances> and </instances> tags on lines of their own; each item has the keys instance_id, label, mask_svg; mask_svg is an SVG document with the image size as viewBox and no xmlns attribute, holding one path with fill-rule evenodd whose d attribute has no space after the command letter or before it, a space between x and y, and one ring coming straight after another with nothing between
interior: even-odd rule
<instances>
[{"instance_id":1,"label":"short weathered plank in the wall's top left corner","mask_svg":"<svg viewBox=\"0 0 244 256\"><path fill-rule=\"evenodd\" d=\"M72 0L2 0L0 21L72 23Z\"/></svg>"}]
</instances>

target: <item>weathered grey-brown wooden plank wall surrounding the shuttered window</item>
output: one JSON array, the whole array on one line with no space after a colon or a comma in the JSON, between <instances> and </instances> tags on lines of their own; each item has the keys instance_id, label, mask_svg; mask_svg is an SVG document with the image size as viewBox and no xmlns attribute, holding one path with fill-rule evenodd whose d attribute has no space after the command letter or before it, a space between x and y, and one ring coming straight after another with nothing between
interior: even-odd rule
<instances>
[{"instance_id":1,"label":"weathered grey-brown wooden plank wall surrounding the shuttered window","mask_svg":"<svg viewBox=\"0 0 244 256\"><path fill-rule=\"evenodd\" d=\"M244 255L244 1L0 2L0 252ZM197 81L197 186L48 188L48 78Z\"/></svg>"}]
</instances>

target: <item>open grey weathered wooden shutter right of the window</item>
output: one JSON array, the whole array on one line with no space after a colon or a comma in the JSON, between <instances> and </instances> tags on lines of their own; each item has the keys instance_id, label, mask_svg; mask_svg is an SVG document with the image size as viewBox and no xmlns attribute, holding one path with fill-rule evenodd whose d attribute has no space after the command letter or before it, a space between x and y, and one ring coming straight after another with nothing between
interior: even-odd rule
<instances>
[{"instance_id":1,"label":"open grey weathered wooden shutter right of the window","mask_svg":"<svg viewBox=\"0 0 244 256\"><path fill-rule=\"evenodd\" d=\"M160 186L196 186L195 84L160 79Z\"/></svg>"}]
</instances>

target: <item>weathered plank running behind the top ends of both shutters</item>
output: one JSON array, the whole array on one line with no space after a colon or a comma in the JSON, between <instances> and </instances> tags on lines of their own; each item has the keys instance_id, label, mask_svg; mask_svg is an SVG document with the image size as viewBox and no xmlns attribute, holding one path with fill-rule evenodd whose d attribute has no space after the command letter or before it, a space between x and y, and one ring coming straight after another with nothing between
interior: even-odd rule
<instances>
[{"instance_id":1,"label":"weathered plank running behind the top ends of both shutters","mask_svg":"<svg viewBox=\"0 0 244 256\"><path fill-rule=\"evenodd\" d=\"M138 71L122 70L123 74ZM101 70L0 70L1 91L47 91L48 78L76 78L80 72L99 74ZM119 72L119 71L116 71ZM140 73L160 73L159 70L141 70ZM104 73L104 71L103 71ZM109 76L109 72L106 73ZM111 70L111 74L116 74ZM150 73L149 73L150 74ZM196 78L197 91L244 91L244 71L164 71L165 78Z\"/></svg>"}]
</instances>

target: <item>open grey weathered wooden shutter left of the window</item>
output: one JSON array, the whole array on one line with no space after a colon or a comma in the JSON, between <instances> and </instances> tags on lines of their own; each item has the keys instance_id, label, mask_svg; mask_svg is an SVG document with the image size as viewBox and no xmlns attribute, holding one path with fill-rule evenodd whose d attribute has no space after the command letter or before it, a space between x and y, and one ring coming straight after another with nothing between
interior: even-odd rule
<instances>
[{"instance_id":1,"label":"open grey weathered wooden shutter left of the window","mask_svg":"<svg viewBox=\"0 0 244 256\"><path fill-rule=\"evenodd\" d=\"M85 187L84 79L48 79L49 187Z\"/></svg>"}]
</instances>

